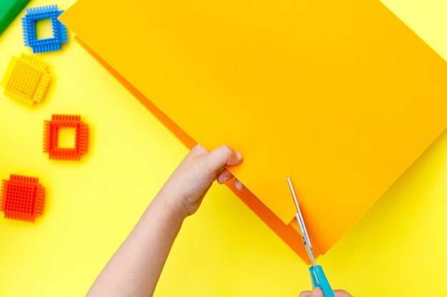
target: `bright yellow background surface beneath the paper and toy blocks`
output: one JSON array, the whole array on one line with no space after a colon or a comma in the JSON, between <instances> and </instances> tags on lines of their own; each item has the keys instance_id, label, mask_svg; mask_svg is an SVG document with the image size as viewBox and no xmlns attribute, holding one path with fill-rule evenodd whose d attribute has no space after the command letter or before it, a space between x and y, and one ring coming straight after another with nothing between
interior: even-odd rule
<instances>
[{"instance_id":1,"label":"bright yellow background surface beneath the paper and toy blocks","mask_svg":"<svg viewBox=\"0 0 447 297\"><path fill-rule=\"evenodd\" d=\"M73 3L61 0L59 9ZM447 58L443 1L385 4ZM0 75L20 53L31 48L16 19L0 36ZM0 296L83 296L187 150L71 33L62 51L36 56L54 79L34 108L0 95L0 178L39 177L46 205L34 224L0 218ZM81 162L42 152L51 114L89 124ZM354 296L446 296L446 212L444 132L318 262L333 288ZM298 296L308 288L306 264L229 189L215 186L186 220L156 296Z\"/></svg>"}]
</instances>

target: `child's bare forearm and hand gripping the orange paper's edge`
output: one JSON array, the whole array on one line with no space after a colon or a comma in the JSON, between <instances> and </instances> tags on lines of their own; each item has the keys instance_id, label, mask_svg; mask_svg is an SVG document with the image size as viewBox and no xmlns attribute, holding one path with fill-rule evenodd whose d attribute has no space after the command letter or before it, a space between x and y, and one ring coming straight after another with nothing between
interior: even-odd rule
<instances>
[{"instance_id":1,"label":"child's bare forearm and hand gripping the orange paper's edge","mask_svg":"<svg viewBox=\"0 0 447 297\"><path fill-rule=\"evenodd\" d=\"M211 152L196 145L149 204L87 296L153 296L185 217L196 212L214 179L223 184L233 177L225 166L241 162L241 154L228 145ZM236 187L242 189L237 180Z\"/></svg>"}]
</instances>

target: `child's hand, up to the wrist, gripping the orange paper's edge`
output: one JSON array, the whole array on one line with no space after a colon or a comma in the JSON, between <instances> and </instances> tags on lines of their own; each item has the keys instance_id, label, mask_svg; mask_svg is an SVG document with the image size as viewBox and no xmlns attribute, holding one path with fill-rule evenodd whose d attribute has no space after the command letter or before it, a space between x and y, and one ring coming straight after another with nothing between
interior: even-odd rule
<instances>
[{"instance_id":1,"label":"child's hand, up to the wrist, gripping the orange paper's edge","mask_svg":"<svg viewBox=\"0 0 447 297\"><path fill-rule=\"evenodd\" d=\"M217 147L211 152L196 145L169 177L161 193L169 197L181 216L187 217L199 208L214 179L223 184L233 177L224 166L241 162L241 153L228 145ZM238 189L243 188L237 179L235 185Z\"/></svg>"}]
</instances>

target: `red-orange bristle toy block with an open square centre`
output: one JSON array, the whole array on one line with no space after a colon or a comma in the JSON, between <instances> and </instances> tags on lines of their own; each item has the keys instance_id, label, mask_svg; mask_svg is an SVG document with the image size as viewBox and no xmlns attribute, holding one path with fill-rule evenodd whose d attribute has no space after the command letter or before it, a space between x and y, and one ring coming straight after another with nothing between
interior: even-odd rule
<instances>
[{"instance_id":1,"label":"red-orange bristle toy block with an open square centre","mask_svg":"<svg viewBox=\"0 0 447 297\"><path fill-rule=\"evenodd\" d=\"M59 147L59 128L75 129L74 147ZM52 115L51 120L44 123L44 152L54 160L81 160L87 152L89 142L89 125L81 121L79 115Z\"/></svg>"}]
</instances>

